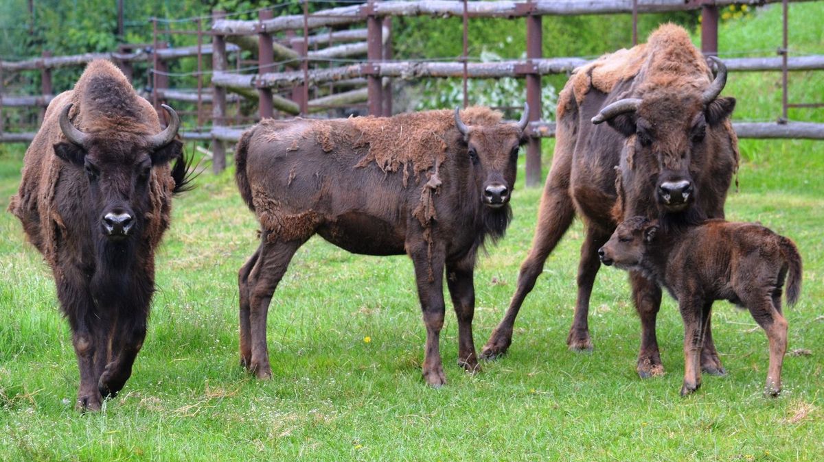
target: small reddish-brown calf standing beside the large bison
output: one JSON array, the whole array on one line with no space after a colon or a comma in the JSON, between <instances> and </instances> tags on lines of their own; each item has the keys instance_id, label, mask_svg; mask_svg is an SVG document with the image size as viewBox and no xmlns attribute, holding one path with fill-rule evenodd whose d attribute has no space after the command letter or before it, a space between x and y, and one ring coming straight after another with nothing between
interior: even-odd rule
<instances>
[{"instance_id":1,"label":"small reddish-brown calf standing beside the large bison","mask_svg":"<svg viewBox=\"0 0 824 462\"><path fill-rule=\"evenodd\" d=\"M766 331L770 368L765 394L779 394L787 350L787 321L781 315L784 281L787 303L795 304L801 293L801 256L793 241L760 224L723 219L684 233L662 233L658 220L634 216L618 226L598 255L604 265L639 272L677 299L684 320L681 396L701 386L698 360L714 300L747 308Z\"/></svg>"}]
</instances>

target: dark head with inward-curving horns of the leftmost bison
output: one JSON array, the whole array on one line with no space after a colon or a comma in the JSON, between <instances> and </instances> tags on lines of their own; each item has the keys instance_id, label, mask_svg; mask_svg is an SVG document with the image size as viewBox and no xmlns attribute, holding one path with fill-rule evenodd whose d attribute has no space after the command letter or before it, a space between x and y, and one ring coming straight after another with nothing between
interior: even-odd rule
<instances>
[{"instance_id":1,"label":"dark head with inward-curving horns of the leftmost bison","mask_svg":"<svg viewBox=\"0 0 824 462\"><path fill-rule=\"evenodd\" d=\"M119 241L140 233L144 215L150 210L152 168L182 155L183 145L175 139L180 118L166 104L163 108L171 122L165 130L150 136L84 133L69 121L72 104L60 113L60 129L69 142L54 145L54 153L85 170L91 229L99 229L110 240Z\"/></svg>"}]
</instances>

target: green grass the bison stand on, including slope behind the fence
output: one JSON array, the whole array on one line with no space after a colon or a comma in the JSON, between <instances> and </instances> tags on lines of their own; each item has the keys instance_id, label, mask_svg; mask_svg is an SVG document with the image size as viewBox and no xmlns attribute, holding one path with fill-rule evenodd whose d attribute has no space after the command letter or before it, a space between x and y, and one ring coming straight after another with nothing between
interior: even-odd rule
<instances>
[{"instance_id":1,"label":"green grass the bison stand on, including slope behind the fence","mask_svg":"<svg viewBox=\"0 0 824 462\"><path fill-rule=\"evenodd\" d=\"M798 8L813 25L822 10ZM770 15L742 27L777 27ZM811 40L820 52L821 36ZM807 76L794 74L795 88L820 96L820 77ZM761 96L760 87L772 91L778 78L731 76L724 94L742 101L736 117L776 114L775 94ZM639 321L625 273L611 268L592 295L594 351L568 352L579 223L527 298L510 352L479 375L456 365L447 306L449 383L439 390L420 377L425 331L410 261L354 256L313 238L269 311L273 380L255 381L238 365L236 321L236 271L255 250L255 220L230 169L202 175L176 201L147 341L133 377L101 413L73 410L77 363L54 282L20 224L0 213L0 460L822 460L824 144L742 141L742 152L728 218L761 221L793 238L804 258L802 298L785 311L794 353L775 400L761 395L765 335L728 303L714 314L727 377L705 377L695 395L678 395L683 330L665 298L658 338L667 374L640 380ZM21 159L20 146L0 147L3 210ZM508 304L535 225L541 191L520 180L508 236L476 271L479 347Z\"/></svg>"}]
</instances>

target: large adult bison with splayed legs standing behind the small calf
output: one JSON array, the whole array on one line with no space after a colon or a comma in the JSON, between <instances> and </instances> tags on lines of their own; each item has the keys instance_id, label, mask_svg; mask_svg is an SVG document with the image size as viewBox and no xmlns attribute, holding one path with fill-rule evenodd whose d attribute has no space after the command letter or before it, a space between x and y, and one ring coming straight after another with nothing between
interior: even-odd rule
<instances>
[{"instance_id":1,"label":"large adult bison with splayed legs standing behind the small calf","mask_svg":"<svg viewBox=\"0 0 824 462\"><path fill-rule=\"evenodd\" d=\"M503 321L481 352L504 353L527 293L577 211L586 226L578 266L578 298L569 330L570 349L592 349L588 305L600 262L597 249L622 216L643 215L669 226L723 218L723 204L738 164L729 122L733 98L719 98L726 68L714 59L714 77L686 30L662 25L648 44L608 54L576 70L559 95L557 141L546 179L532 247L518 275ZM593 125L607 122L605 125ZM615 167L622 171L616 178ZM616 193L616 181L623 194ZM641 377L663 372L655 337L661 289L630 274L641 317ZM710 373L723 373L709 321L701 358Z\"/></svg>"}]
</instances>

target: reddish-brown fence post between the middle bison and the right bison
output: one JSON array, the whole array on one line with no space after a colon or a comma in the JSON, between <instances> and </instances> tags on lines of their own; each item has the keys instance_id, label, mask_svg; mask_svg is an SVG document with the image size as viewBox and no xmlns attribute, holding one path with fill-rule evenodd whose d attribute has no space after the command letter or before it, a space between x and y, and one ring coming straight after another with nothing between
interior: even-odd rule
<instances>
[{"instance_id":1,"label":"reddish-brown fence post between the middle bison and the right bison","mask_svg":"<svg viewBox=\"0 0 824 462\"><path fill-rule=\"evenodd\" d=\"M531 2L530 2L531 4ZM527 16L527 62L534 66L533 59L541 58L541 16ZM527 103L529 103L529 121L541 120L541 75L532 69L527 74ZM527 127L531 134L531 129ZM527 187L541 186L541 138L530 136L527 141Z\"/></svg>"}]
</instances>

